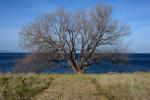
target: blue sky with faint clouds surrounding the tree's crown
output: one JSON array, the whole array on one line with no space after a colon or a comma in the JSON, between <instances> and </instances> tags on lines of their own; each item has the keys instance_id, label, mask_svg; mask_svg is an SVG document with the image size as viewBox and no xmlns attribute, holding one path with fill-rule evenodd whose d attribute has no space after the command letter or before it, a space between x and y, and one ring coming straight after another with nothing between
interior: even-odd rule
<instances>
[{"instance_id":1,"label":"blue sky with faint clouds surrounding the tree's crown","mask_svg":"<svg viewBox=\"0 0 150 100\"><path fill-rule=\"evenodd\" d=\"M58 7L68 10L111 5L113 17L131 27L126 39L131 52L150 53L150 0L0 0L0 50L24 51L19 46L21 28Z\"/></svg>"}]
</instances>

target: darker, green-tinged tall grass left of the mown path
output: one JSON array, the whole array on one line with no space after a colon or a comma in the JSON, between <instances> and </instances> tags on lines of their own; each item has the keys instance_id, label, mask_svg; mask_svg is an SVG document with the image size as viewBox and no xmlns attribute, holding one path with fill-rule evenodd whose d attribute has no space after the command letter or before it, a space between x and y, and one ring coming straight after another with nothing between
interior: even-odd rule
<instances>
[{"instance_id":1,"label":"darker, green-tinged tall grass left of the mown path","mask_svg":"<svg viewBox=\"0 0 150 100\"><path fill-rule=\"evenodd\" d=\"M30 100L47 89L52 80L35 74L0 75L0 100Z\"/></svg>"}]
</instances>

